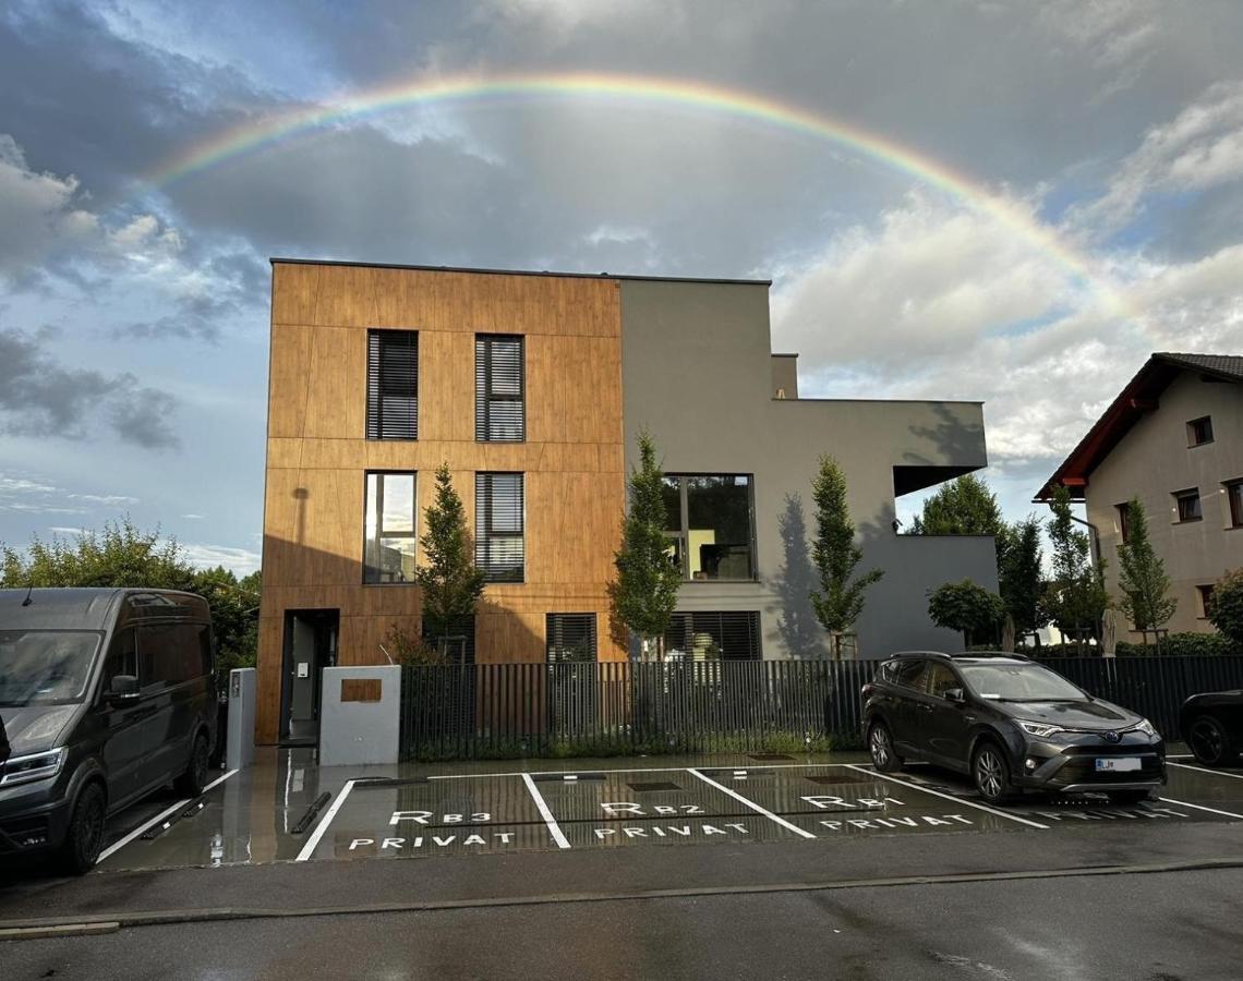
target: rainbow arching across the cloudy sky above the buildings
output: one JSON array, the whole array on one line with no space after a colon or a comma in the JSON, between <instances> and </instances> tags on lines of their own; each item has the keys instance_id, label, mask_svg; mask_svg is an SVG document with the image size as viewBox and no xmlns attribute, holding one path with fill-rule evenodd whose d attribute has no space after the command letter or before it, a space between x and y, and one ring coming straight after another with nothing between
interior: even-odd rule
<instances>
[{"instance_id":1,"label":"rainbow arching across the cloudy sky above the buildings","mask_svg":"<svg viewBox=\"0 0 1243 981\"><path fill-rule=\"evenodd\" d=\"M1125 301L1115 291L1109 277L1093 260L1075 251L1053 228L1042 224L1022 208L938 160L881 134L792 103L742 90L679 78L567 72L490 77L461 75L403 82L349 94L314 108L296 109L244 123L168 160L149 173L148 179L157 187L168 185L260 152L290 137L393 109L517 97L614 98L658 107L701 109L828 140L909 174L922 184L991 215L1062 266L1076 281L1090 285L1109 301L1112 311L1125 307Z\"/></svg>"}]
</instances>

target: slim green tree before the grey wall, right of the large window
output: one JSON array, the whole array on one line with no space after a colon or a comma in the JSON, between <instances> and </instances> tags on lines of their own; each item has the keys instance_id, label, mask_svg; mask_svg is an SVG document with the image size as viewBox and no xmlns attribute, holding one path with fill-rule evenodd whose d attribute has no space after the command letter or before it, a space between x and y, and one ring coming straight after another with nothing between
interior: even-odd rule
<instances>
[{"instance_id":1,"label":"slim green tree before the grey wall, right of the large window","mask_svg":"<svg viewBox=\"0 0 1243 981\"><path fill-rule=\"evenodd\" d=\"M846 479L838 461L820 456L820 470L812 481L815 501L815 542L812 564L815 566L820 588L810 593L812 608L820 625L829 632L834 659L842 656L842 635L848 633L863 613L864 593L880 581L883 569L869 569L851 582L863 560L855 545L854 522L846 507Z\"/></svg>"}]
</instances>

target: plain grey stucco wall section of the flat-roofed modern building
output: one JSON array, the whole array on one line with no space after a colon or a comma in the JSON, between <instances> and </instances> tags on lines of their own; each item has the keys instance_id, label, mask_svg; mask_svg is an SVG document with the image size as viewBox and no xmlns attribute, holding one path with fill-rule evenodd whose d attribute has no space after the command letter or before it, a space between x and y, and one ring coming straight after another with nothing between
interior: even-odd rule
<instances>
[{"instance_id":1,"label":"plain grey stucco wall section of the flat-roofed modern building","mask_svg":"<svg viewBox=\"0 0 1243 981\"><path fill-rule=\"evenodd\" d=\"M885 571L859 623L861 654L961 645L927 619L926 593L965 577L996 588L992 540L895 535L892 467L983 466L978 403L773 399L759 283L623 282L622 362L628 469L646 428L667 472L755 475L758 581L686 583L679 609L759 610L766 658L825 653L807 593L812 480L830 453L863 567Z\"/></svg>"}]
</instances>

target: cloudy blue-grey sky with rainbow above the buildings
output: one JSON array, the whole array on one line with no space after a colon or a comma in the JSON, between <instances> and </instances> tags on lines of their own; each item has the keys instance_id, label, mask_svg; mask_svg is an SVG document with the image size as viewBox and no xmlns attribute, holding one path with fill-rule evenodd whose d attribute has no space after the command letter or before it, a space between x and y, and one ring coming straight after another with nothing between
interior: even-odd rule
<instances>
[{"instance_id":1,"label":"cloudy blue-grey sky with rainbow above the buildings","mask_svg":"<svg viewBox=\"0 0 1243 981\"><path fill-rule=\"evenodd\" d=\"M7 0L0 542L257 567L271 256L772 279L803 395L982 400L1018 518L1243 353L1243 4Z\"/></svg>"}]
</instances>

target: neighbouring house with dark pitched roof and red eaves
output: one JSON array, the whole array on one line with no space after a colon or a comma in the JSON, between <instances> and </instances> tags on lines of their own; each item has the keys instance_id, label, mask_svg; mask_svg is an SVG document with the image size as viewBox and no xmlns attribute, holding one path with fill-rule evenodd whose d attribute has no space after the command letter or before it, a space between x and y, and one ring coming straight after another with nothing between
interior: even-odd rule
<instances>
[{"instance_id":1,"label":"neighbouring house with dark pitched roof and red eaves","mask_svg":"<svg viewBox=\"0 0 1243 981\"><path fill-rule=\"evenodd\" d=\"M1086 504L1115 599L1126 502L1139 497L1178 601L1167 629L1212 630L1213 582L1243 566L1243 356L1150 357L1037 499L1058 484Z\"/></svg>"}]
</instances>

